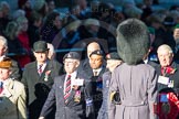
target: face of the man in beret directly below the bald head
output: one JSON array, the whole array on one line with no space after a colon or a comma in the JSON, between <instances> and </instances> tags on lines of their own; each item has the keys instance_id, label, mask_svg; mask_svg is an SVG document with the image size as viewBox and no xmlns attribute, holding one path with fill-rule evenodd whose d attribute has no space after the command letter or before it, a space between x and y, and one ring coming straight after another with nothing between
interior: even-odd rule
<instances>
[{"instance_id":1,"label":"face of the man in beret directly below the bald head","mask_svg":"<svg viewBox=\"0 0 179 119\"><path fill-rule=\"evenodd\" d=\"M93 69L97 69L102 66L103 64L103 56L99 56L99 55L96 55L96 54L93 54L91 57L90 57L90 65Z\"/></svg>"}]
</instances>

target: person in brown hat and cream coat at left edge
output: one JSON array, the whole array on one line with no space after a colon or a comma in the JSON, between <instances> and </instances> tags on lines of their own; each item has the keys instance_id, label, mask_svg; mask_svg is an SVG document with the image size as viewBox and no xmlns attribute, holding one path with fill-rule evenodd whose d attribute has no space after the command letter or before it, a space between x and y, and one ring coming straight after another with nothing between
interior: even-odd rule
<instances>
[{"instance_id":1,"label":"person in brown hat and cream coat at left edge","mask_svg":"<svg viewBox=\"0 0 179 119\"><path fill-rule=\"evenodd\" d=\"M0 118L27 119L27 94L24 85L10 77L12 61L0 62Z\"/></svg>"}]
</instances>

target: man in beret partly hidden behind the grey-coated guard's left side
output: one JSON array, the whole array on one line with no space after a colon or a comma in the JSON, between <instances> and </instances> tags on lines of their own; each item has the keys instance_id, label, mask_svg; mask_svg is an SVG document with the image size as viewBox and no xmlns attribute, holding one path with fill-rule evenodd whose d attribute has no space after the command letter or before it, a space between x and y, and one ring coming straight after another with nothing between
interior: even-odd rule
<instances>
[{"instance_id":1,"label":"man in beret partly hidden behind the grey-coated guard's left side","mask_svg":"<svg viewBox=\"0 0 179 119\"><path fill-rule=\"evenodd\" d=\"M97 119L108 119L108 115L113 115L113 113L108 113L108 106L107 106L108 88L109 88L113 71L123 62L119 55L117 54L117 52L112 52L106 55L106 63L107 63L106 68L108 68L108 71L103 74L103 102L98 111ZM115 100L115 101L117 102L119 100ZM115 105L112 104L110 109L112 108L115 108Z\"/></svg>"}]
</instances>

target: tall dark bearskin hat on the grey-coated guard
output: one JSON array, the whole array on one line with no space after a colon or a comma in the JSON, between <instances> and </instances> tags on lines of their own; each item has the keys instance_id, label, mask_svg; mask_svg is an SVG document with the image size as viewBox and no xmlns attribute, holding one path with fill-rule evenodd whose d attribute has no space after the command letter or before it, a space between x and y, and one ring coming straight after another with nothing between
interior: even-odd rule
<instances>
[{"instance_id":1,"label":"tall dark bearskin hat on the grey-coated guard","mask_svg":"<svg viewBox=\"0 0 179 119\"><path fill-rule=\"evenodd\" d=\"M117 26L117 52L128 65L140 63L149 46L149 32L140 20L127 19Z\"/></svg>"}]
</instances>

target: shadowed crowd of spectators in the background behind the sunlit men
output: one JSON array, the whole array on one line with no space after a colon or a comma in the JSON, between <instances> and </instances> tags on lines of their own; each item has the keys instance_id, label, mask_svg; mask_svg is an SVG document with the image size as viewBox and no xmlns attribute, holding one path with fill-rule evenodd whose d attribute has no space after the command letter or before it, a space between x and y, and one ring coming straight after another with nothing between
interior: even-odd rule
<instances>
[{"instance_id":1,"label":"shadowed crowd of spectators in the background behind the sunlit men","mask_svg":"<svg viewBox=\"0 0 179 119\"><path fill-rule=\"evenodd\" d=\"M116 51L115 30L127 18L143 20L154 34L151 61L158 61L159 45L176 48L177 0L1 0L0 34L8 40L9 56L23 68L34 61L31 48L39 40L53 44L59 62L69 51L78 51L84 57L92 41L97 41L106 54Z\"/></svg>"}]
</instances>

